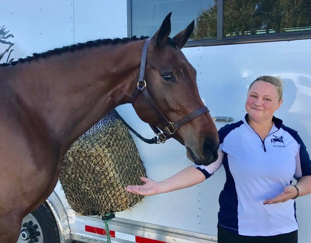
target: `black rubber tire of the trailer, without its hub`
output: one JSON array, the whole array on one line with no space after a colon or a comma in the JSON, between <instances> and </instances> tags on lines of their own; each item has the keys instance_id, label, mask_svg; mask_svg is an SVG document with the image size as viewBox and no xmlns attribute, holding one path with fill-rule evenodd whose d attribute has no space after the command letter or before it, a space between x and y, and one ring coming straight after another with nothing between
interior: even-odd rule
<instances>
[{"instance_id":1,"label":"black rubber tire of the trailer, without its hub","mask_svg":"<svg viewBox=\"0 0 311 243\"><path fill-rule=\"evenodd\" d=\"M26 219L27 216L28 218ZM38 228L36 230L40 232L40 235L37 237L39 239L38 243L60 242L56 221L47 203L41 204L39 208L37 208L34 212L32 212L30 215L27 216L23 219L22 225L27 224L29 222L30 216L35 218L32 221L34 225L35 224L38 225ZM22 230L25 228L26 228L25 225L24 227L22 226ZM23 242L27 243L28 240Z\"/></svg>"}]
</instances>

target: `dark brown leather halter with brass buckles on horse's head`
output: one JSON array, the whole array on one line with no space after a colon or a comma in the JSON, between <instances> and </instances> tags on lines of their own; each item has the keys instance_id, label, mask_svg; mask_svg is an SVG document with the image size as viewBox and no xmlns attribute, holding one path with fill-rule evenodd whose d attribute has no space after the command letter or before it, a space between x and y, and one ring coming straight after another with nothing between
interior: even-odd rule
<instances>
[{"instance_id":1,"label":"dark brown leather halter with brass buckles on horse's head","mask_svg":"<svg viewBox=\"0 0 311 243\"><path fill-rule=\"evenodd\" d=\"M156 143L164 143L167 139L170 139L172 135L176 132L176 130L186 124L188 121L191 121L192 119L196 118L197 116L202 115L205 112L209 112L207 106L203 106L201 108L198 108L197 110L190 113L188 116L185 116L184 118L180 119L179 121L171 122L169 121L165 115L160 111L158 106L155 104L154 99L151 97L148 89L147 84L145 81L145 66L146 66L146 60L147 60L147 52L148 52L148 46L149 42L151 40L151 37L146 39L144 46L142 48L141 52L141 60L140 60L140 72L139 72L139 79L137 83L137 88L135 89L133 95L132 95L132 105L134 105L134 101L136 97L138 96L139 92L142 92L145 96L146 100L151 104L151 106L154 108L155 112L161 119L161 121L165 124L165 131L161 132L160 129L152 124L149 124L154 130L155 135L158 136Z\"/></svg>"}]
</instances>

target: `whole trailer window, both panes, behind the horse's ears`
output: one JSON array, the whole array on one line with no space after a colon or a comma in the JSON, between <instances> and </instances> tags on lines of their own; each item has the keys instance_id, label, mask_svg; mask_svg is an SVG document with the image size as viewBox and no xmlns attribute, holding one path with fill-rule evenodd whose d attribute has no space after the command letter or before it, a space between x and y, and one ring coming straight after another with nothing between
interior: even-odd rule
<instances>
[{"instance_id":1,"label":"whole trailer window, both panes, behind the horse's ears","mask_svg":"<svg viewBox=\"0 0 311 243\"><path fill-rule=\"evenodd\" d=\"M172 15L177 34L193 19L186 46L311 38L311 0L128 0L129 35L152 36Z\"/></svg>"}]
</instances>

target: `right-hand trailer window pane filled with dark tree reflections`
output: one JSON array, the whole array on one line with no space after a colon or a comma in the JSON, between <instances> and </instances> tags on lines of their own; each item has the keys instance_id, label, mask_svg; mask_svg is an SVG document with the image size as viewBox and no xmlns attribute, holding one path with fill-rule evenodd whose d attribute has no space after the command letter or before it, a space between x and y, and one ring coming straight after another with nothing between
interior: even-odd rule
<instances>
[{"instance_id":1,"label":"right-hand trailer window pane filled with dark tree reflections","mask_svg":"<svg viewBox=\"0 0 311 243\"><path fill-rule=\"evenodd\" d=\"M311 0L225 0L224 37L311 31Z\"/></svg>"}]
</instances>

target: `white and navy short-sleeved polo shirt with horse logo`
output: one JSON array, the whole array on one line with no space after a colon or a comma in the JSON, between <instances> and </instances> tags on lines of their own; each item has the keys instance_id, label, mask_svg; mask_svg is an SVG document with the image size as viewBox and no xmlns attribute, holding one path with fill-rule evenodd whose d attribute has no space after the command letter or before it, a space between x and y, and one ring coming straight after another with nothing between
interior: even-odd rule
<instances>
[{"instance_id":1,"label":"white and navy short-sleeved polo shirt with horse logo","mask_svg":"<svg viewBox=\"0 0 311 243\"><path fill-rule=\"evenodd\" d=\"M226 182L219 196L220 226L246 236L273 236L298 229L295 201L263 205L280 194L295 179L311 175L306 146L293 129L273 117L269 135L261 140L242 121L219 131L219 158L208 166L196 166L206 178L223 164Z\"/></svg>"}]
</instances>

